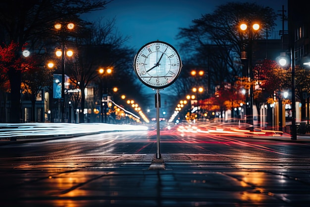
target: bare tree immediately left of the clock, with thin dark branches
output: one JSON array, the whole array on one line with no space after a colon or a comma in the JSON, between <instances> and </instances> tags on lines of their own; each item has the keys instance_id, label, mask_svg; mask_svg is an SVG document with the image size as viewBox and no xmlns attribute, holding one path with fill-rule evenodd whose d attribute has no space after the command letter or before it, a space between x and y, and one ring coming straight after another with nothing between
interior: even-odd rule
<instances>
[{"instance_id":1,"label":"bare tree immediately left of the clock, with thin dark branches","mask_svg":"<svg viewBox=\"0 0 310 207\"><path fill-rule=\"evenodd\" d=\"M133 91L139 93L140 86L135 84L134 75L128 75L133 71L131 57L133 51L122 47L128 38L117 32L115 18L106 21L100 18L87 28L83 28L76 38L76 60L74 67L68 70L67 74L81 90L80 106L82 111L85 108L84 89L89 83L96 83L96 79L100 78L100 68L112 68L113 70L113 75L104 79L105 85L109 81L110 84L117 83L118 87L121 87L121 90L127 94L128 92L133 93ZM101 81L97 81L97 84L99 89L102 89ZM108 93L108 91L105 92ZM102 97L98 97L97 102L100 103L101 99ZM83 113L80 113L80 121L84 121Z\"/></svg>"}]
</instances>

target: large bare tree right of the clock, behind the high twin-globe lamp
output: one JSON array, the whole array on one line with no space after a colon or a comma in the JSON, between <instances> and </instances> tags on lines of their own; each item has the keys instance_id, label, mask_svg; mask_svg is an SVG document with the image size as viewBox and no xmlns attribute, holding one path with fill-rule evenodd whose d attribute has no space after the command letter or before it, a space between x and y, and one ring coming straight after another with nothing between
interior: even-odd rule
<instances>
[{"instance_id":1,"label":"large bare tree right of the clock, behind the high twin-globe lamp","mask_svg":"<svg viewBox=\"0 0 310 207\"><path fill-rule=\"evenodd\" d=\"M181 28L178 38L184 40L181 44L183 51L187 51L198 66L207 63L208 85L215 88L224 82L234 84L236 76L245 76L241 51L253 39L266 38L266 31L273 29L275 20L276 14L270 7L228 2L211 14L193 20L189 28ZM239 29L245 22L248 25L259 22L261 29L250 37Z\"/></svg>"}]
</instances>

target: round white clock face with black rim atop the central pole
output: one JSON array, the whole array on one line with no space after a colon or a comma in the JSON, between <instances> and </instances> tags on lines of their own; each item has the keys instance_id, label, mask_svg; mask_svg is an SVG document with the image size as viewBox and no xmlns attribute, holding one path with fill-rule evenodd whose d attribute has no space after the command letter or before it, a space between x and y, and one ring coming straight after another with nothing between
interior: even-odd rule
<instances>
[{"instance_id":1,"label":"round white clock face with black rim atop the central pole","mask_svg":"<svg viewBox=\"0 0 310 207\"><path fill-rule=\"evenodd\" d=\"M134 59L135 72L145 85L165 88L179 76L182 61L170 44L154 41L144 45Z\"/></svg>"}]
</instances>

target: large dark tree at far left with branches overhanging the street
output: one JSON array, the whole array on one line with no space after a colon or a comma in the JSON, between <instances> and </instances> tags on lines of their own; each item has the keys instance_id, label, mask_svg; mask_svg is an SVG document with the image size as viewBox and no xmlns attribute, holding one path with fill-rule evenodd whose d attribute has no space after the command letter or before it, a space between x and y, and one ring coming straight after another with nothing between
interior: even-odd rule
<instances>
[{"instance_id":1,"label":"large dark tree at far left with branches overhanging the street","mask_svg":"<svg viewBox=\"0 0 310 207\"><path fill-rule=\"evenodd\" d=\"M18 44L15 62L20 58L25 44L33 39L51 37L51 28L56 21L78 19L78 15L105 9L110 1L105 0L9 0L0 2L0 38L2 45ZM33 45L27 47L32 48ZM2 63L0 63L2 64ZM22 63L20 63L22 64ZM20 67L8 67L7 74L11 92L11 122L19 122L20 110Z\"/></svg>"}]
</instances>

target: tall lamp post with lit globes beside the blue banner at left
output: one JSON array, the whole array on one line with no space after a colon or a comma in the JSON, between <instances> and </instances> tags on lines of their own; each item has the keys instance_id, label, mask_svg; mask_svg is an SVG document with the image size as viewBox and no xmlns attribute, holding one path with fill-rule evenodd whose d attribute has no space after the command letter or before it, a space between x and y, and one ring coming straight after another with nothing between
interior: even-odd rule
<instances>
[{"instance_id":1,"label":"tall lamp post with lit globes beside the blue banner at left","mask_svg":"<svg viewBox=\"0 0 310 207\"><path fill-rule=\"evenodd\" d=\"M73 23L67 23L67 24L57 23L54 25L55 29L59 32L59 36L61 38L61 122L65 122L65 100L64 100L65 55L64 54L65 54L66 32L73 30L74 26L75 25ZM58 54L60 54L59 52Z\"/></svg>"}]
</instances>

